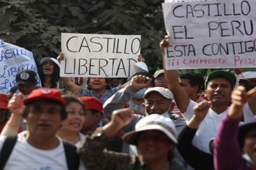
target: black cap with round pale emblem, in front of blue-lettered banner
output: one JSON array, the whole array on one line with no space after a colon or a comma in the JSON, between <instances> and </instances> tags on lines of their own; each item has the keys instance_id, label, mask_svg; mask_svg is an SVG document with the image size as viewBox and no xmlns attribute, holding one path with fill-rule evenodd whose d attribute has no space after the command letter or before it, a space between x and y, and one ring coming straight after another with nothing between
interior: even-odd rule
<instances>
[{"instance_id":1,"label":"black cap with round pale emblem, in front of blue-lettered banner","mask_svg":"<svg viewBox=\"0 0 256 170\"><path fill-rule=\"evenodd\" d=\"M37 74L33 70L20 70L16 75L16 84L31 86L37 82Z\"/></svg>"}]
</instances>

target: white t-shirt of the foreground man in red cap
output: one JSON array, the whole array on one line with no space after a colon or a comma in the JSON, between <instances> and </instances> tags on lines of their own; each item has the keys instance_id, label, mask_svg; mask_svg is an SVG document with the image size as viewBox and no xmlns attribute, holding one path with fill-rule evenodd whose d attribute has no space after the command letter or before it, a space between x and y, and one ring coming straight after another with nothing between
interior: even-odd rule
<instances>
[{"instance_id":1,"label":"white t-shirt of the foreground man in red cap","mask_svg":"<svg viewBox=\"0 0 256 170\"><path fill-rule=\"evenodd\" d=\"M25 140L27 131L18 134L18 140L6 162L5 170L68 170L63 141L59 138L60 145L53 150L41 150L30 145ZM6 136L0 136L0 150ZM85 170L80 162L79 170Z\"/></svg>"}]
</instances>

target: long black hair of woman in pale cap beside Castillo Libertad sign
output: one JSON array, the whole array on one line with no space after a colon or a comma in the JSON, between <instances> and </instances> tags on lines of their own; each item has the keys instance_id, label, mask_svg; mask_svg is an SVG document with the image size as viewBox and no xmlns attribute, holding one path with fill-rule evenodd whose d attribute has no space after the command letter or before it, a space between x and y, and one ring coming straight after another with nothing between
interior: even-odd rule
<instances>
[{"instance_id":1,"label":"long black hair of woman in pale cap beside Castillo Libertad sign","mask_svg":"<svg viewBox=\"0 0 256 170\"><path fill-rule=\"evenodd\" d=\"M52 62L52 63L54 63L54 62ZM39 65L39 77L40 77L40 79L41 79L42 86L45 86L45 85L44 85L44 79L45 79L45 77L44 77L44 72L43 72L43 65L44 65L44 64ZM52 78L51 78L51 86L50 86L50 88L56 88L57 82L58 82L59 79L60 79L59 74L60 74L59 65L56 65L56 63L54 63L54 72L53 72L53 76L52 76Z\"/></svg>"}]
</instances>

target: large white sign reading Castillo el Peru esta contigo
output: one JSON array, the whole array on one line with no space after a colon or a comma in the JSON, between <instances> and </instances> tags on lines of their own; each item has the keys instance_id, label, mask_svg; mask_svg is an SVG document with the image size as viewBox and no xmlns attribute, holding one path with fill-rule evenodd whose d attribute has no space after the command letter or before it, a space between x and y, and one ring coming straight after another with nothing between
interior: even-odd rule
<instances>
[{"instance_id":1,"label":"large white sign reading Castillo el Peru esta contigo","mask_svg":"<svg viewBox=\"0 0 256 170\"><path fill-rule=\"evenodd\" d=\"M256 1L162 4L166 69L256 67Z\"/></svg>"}]
</instances>

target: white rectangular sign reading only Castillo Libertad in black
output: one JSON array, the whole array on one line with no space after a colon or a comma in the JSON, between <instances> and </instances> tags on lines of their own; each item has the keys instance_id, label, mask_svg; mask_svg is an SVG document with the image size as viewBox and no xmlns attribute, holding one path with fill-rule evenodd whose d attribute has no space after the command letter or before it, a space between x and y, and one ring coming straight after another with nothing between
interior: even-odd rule
<instances>
[{"instance_id":1,"label":"white rectangular sign reading only Castillo Libertad in black","mask_svg":"<svg viewBox=\"0 0 256 170\"><path fill-rule=\"evenodd\" d=\"M140 35L61 34L61 77L131 77Z\"/></svg>"}]
</instances>

